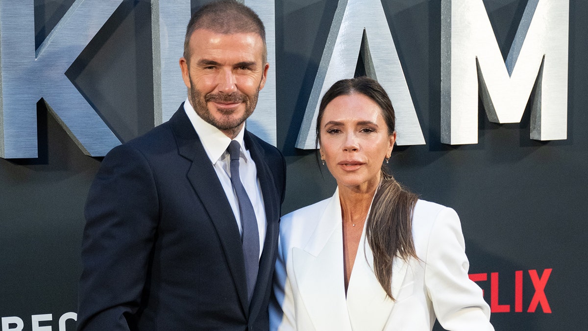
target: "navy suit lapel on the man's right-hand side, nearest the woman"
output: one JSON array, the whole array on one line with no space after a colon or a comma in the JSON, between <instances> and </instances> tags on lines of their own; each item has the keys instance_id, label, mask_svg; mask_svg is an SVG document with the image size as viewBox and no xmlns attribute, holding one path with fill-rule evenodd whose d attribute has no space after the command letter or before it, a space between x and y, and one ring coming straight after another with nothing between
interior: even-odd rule
<instances>
[{"instance_id":1,"label":"navy suit lapel on the man's right-hand side, nearest the woman","mask_svg":"<svg viewBox=\"0 0 588 331\"><path fill-rule=\"evenodd\" d=\"M249 131L245 131L243 140L245 141L245 145L249 148L249 154L255 162L267 220L265 241L263 243L262 255L259 260L258 279L250 307L249 318L255 319L260 312L263 296L266 294L266 290L265 288L262 288L262 286L269 286L267 284L271 282L272 278L273 257L275 256L276 249L274 243L278 242L280 201L276 194L276 183L274 183L268 164L265 161L263 148L253 139L252 134L250 134Z\"/></svg>"}]
</instances>

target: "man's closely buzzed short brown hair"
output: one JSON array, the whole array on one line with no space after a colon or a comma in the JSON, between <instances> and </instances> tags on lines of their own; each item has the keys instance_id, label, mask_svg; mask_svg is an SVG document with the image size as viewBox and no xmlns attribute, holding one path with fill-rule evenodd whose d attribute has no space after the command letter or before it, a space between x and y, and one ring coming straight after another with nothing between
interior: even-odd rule
<instances>
[{"instance_id":1,"label":"man's closely buzzed short brown hair","mask_svg":"<svg viewBox=\"0 0 588 331\"><path fill-rule=\"evenodd\" d=\"M202 6L192 14L186 39L184 40L183 57L190 62L190 37L194 31L206 29L217 34L250 33L258 34L263 40L263 63L267 62L268 48L265 42L265 27L259 16L248 6L235 0L220 0Z\"/></svg>"}]
</instances>

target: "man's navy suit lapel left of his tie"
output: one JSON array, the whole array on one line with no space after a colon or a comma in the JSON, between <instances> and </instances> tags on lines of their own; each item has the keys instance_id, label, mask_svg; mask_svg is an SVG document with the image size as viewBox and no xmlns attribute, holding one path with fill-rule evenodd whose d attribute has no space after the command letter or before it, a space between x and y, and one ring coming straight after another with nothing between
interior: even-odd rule
<instances>
[{"instance_id":1,"label":"man's navy suit lapel left of his tie","mask_svg":"<svg viewBox=\"0 0 588 331\"><path fill-rule=\"evenodd\" d=\"M248 315L245 262L235 215L200 138L183 110L183 104L169 123L176 137L179 154L192 161L186 176L215 226L243 311Z\"/></svg>"}]
</instances>

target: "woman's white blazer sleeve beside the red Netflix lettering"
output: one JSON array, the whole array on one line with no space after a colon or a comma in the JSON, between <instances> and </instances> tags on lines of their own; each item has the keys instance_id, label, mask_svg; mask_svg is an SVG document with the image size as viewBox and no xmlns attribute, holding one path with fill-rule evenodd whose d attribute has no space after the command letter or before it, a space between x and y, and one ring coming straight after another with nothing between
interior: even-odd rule
<instances>
[{"instance_id":1,"label":"woman's white blazer sleeve beside the red Netflix lettering","mask_svg":"<svg viewBox=\"0 0 588 331\"><path fill-rule=\"evenodd\" d=\"M425 283L437 320L446 330L494 330L482 289L467 276L469 262L457 213L443 208L429 234Z\"/></svg>"}]
</instances>

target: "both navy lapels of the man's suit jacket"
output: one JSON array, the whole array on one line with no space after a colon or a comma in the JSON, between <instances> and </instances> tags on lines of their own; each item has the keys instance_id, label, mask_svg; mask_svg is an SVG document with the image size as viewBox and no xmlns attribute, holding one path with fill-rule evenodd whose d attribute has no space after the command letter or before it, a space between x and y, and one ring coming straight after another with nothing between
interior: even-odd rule
<instances>
[{"instance_id":1,"label":"both navy lapels of the man's suit jacket","mask_svg":"<svg viewBox=\"0 0 588 331\"><path fill-rule=\"evenodd\" d=\"M176 137L179 154L192 161L192 166L187 174L188 180L192 183L192 187L215 225L243 311L250 320L255 320L256 316L261 312L263 299L267 292L266 289L260 289L259 286L269 286L273 274L273 264L275 262L273 257L276 256L276 245L273 243L278 241L278 220L281 202L275 194L277 186L265 161L263 148L256 141L255 135L245 130L243 141L245 141L245 145L248 147L249 153L256 164L268 222L262 256L259 260L256 285L258 287L256 287L251 303L249 303L245 282L243 248L237 221L200 138L196 134L188 115L183 110L183 104L169 120L169 123Z\"/></svg>"}]
</instances>

